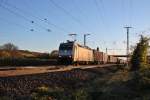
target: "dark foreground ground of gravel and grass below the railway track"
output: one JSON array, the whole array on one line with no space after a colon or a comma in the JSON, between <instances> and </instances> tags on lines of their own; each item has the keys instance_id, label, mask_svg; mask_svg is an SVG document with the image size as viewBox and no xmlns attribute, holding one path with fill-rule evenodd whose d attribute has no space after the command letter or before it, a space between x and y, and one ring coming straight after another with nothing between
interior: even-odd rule
<instances>
[{"instance_id":1,"label":"dark foreground ground of gravel and grass below the railway track","mask_svg":"<svg viewBox=\"0 0 150 100\"><path fill-rule=\"evenodd\" d=\"M0 78L2 100L141 100L124 66ZM146 99L148 100L148 99Z\"/></svg>"}]
</instances>

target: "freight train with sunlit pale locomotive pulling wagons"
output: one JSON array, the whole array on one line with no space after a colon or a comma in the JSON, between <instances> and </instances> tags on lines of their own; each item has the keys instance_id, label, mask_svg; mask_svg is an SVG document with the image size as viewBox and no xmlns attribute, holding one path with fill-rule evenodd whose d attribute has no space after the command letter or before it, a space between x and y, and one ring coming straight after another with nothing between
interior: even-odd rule
<instances>
[{"instance_id":1,"label":"freight train with sunlit pale locomotive pulling wagons","mask_svg":"<svg viewBox=\"0 0 150 100\"><path fill-rule=\"evenodd\" d=\"M58 61L63 64L106 64L125 62L122 59L100 52L99 49L93 50L74 41L67 41L66 43L60 44Z\"/></svg>"}]
</instances>

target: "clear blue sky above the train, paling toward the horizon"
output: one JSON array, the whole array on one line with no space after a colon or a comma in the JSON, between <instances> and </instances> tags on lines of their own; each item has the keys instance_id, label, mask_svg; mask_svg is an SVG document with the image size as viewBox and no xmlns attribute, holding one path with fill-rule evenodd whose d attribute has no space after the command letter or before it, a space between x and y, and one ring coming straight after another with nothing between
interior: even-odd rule
<instances>
[{"instance_id":1,"label":"clear blue sky above the train, paling toward the horizon","mask_svg":"<svg viewBox=\"0 0 150 100\"><path fill-rule=\"evenodd\" d=\"M81 44L83 34L90 33L89 47L125 53L123 27L133 27L131 45L138 40L136 33L148 35L149 4L149 0L0 0L0 45L12 42L20 49L51 52L71 39L70 33L78 34Z\"/></svg>"}]
</instances>

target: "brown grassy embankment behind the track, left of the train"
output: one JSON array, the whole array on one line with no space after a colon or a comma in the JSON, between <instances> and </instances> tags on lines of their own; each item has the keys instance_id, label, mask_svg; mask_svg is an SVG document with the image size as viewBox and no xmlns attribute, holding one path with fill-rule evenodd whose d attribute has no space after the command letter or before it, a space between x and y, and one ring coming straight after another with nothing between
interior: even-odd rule
<instances>
[{"instance_id":1,"label":"brown grassy embankment behind the track, left of the train","mask_svg":"<svg viewBox=\"0 0 150 100\"><path fill-rule=\"evenodd\" d=\"M36 66L56 64L48 53L30 52L24 50L0 50L0 66Z\"/></svg>"}]
</instances>

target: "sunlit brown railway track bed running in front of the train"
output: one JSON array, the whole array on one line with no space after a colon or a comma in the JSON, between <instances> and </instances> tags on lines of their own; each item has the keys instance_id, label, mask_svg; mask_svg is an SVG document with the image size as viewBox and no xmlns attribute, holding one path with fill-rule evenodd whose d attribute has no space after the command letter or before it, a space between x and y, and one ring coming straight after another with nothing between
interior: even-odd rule
<instances>
[{"instance_id":1,"label":"sunlit brown railway track bed running in front of the train","mask_svg":"<svg viewBox=\"0 0 150 100\"><path fill-rule=\"evenodd\" d=\"M116 64L104 64L104 65L80 65L80 66L28 66L28 67L3 67L0 68L0 77L31 75L39 73L52 73L61 71L70 71L73 69L90 69L96 67L110 67Z\"/></svg>"}]
</instances>

